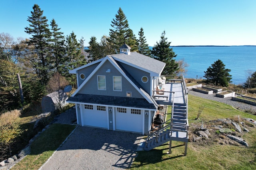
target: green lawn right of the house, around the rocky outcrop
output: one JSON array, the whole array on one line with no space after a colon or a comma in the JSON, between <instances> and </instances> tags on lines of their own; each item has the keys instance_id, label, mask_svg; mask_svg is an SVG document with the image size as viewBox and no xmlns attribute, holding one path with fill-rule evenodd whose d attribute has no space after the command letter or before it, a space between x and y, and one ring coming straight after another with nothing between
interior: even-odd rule
<instances>
[{"instance_id":1,"label":"green lawn right of the house, around the rocky outcrop","mask_svg":"<svg viewBox=\"0 0 256 170\"><path fill-rule=\"evenodd\" d=\"M195 120L200 106L205 106L200 120ZM208 122L219 118L233 118L240 116L256 119L251 115L234 109L232 106L206 100L197 96L188 96L188 119L189 123L200 124L201 121ZM183 156L184 146L182 142L172 141L172 152L168 143L156 147L150 151L140 151L135 158L132 170L250 170L256 169L256 129L251 128L249 133L243 135L243 139L248 142L249 147L241 145L210 145L199 146L192 142L188 143L187 155Z\"/></svg>"}]
</instances>

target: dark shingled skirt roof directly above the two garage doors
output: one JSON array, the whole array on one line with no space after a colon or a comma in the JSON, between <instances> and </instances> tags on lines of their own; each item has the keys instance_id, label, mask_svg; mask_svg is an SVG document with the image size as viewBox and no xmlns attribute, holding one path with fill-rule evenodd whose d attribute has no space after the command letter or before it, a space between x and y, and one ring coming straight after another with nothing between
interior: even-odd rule
<instances>
[{"instance_id":1,"label":"dark shingled skirt roof directly above the two garage doors","mask_svg":"<svg viewBox=\"0 0 256 170\"><path fill-rule=\"evenodd\" d=\"M129 97L117 97L117 96L102 96L92 94L76 94L74 97L70 97L67 102L78 102L88 104L101 104L110 106L122 106L122 107L137 107L144 109L156 109L157 106L148 103L143 98L129 98Z\"/></svg>"}]
</instances>

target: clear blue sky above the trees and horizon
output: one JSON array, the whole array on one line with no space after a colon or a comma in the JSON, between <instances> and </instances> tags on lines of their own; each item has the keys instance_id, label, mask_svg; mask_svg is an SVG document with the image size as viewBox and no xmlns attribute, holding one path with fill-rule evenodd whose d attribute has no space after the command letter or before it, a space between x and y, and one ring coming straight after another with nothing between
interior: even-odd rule
<instances>
[{"instance_id":1,"label":"clear blue sky above the trees and horizon","mask_svg":"<svg viewBox=\"0 0 256 170\"><path fill-rule=\"evenodd\" d=\"M24 27L38 4L64 35L97 41L109 35L119 7L138 38L154 46L165 30L171 45L256 45L256 0L1 0L0 33L29 38Z\"/></svg>"}]
</instances>

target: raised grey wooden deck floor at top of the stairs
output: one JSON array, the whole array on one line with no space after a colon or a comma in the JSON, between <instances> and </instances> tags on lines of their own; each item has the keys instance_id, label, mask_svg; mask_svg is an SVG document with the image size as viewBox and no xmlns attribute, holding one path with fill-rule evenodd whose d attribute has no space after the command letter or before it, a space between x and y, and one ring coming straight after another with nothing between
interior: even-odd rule
<instances>
[{"instance_id":1,"label":"raised grey wooden deck floor at top of the stairs","mask_svg":"<svg viewBox=\"0 0 256 170\"><path fill-rule=\"evenodd\" d=\"M184 104L185 103L185 99L184 99L184 94L183 94L183 88L182 88L182 83L167 83L167 84L163 84L161 89L164 88L164 96L169 96L167 98L166 102L173 102L172 101L172 95L173 93L170 92L175 92L174 93L174 103L181 103ZM165 97L161 98L161 97L157 97L156 101L158 102L164 102L166 100Z\"/></svg>"}]
</instances>

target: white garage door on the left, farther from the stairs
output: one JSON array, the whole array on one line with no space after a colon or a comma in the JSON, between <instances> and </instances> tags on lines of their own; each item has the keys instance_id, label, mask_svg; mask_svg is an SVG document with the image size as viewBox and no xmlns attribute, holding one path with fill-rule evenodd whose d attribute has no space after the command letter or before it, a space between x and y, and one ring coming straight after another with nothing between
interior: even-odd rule
<instances>
[{"instance_id":1,"label":"white garage door on the left, farther from the stairs","mask_svg":"<svg viewBox=\"0 0 256 170\"><path fill-rule=\"evenodd\" d=\"M84 105L82 125L108 128L105 106Z\"/></svg>"}]
</instances>

